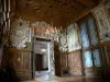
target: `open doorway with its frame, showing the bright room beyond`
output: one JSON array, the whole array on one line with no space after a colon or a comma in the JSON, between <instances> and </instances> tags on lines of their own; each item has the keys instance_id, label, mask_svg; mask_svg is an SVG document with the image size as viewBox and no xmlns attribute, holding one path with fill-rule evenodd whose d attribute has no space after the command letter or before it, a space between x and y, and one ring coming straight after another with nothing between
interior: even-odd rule
<instances>
[{"instance_id":1,"label":"open doorway with its frame, showing the bright room beyond","mask_svg":"<svg viewBox=\"0 0 110 82\"><path fill-rule=\"evenodd\" d=\"M34 38L33 44L33 74L38 78L46 74L54 74L54 47L51 39Z\"/></svg>"}]
</instances>

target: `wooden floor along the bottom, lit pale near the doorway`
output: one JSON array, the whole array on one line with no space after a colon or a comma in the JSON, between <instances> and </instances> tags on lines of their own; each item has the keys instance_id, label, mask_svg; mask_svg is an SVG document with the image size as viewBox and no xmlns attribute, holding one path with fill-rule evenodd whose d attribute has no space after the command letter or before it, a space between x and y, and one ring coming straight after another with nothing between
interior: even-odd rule
<instances>
[{"instance_id":1,"label":"wooden floor along the bottom, lit pale near the doorway","mask_svg":"<svg viewBox=\"0 0 110 82\"><path fill-rule=\"evenodd\" d=\"M84 78L84 77L42 77L36 78L33 81L24 81L24 82L110 82L103 81L102 78Z\"/></svg>"}]
</instances>

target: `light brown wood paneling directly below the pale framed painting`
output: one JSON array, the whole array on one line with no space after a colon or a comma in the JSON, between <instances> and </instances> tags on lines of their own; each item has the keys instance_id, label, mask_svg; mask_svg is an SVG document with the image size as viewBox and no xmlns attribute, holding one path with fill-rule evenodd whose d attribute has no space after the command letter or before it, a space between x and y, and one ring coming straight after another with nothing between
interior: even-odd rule
<instances>
[{"instance_id":1,"label":"light brown wood paneling directly below the pale framed painting","mask_svg":"<svg viewBox=\"0 0 110 82\"><path fill-rule=\"evenodd\" d=\"M68 67L70 74L82 75L80 50L68 54Z\"/></svg>"}]
</instances>

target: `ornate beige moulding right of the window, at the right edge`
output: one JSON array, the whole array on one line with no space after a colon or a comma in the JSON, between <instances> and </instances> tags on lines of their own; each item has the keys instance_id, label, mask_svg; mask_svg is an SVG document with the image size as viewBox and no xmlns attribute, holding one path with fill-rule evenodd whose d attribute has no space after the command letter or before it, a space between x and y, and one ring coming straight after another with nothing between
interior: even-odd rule
<instances>
[{"instance_id":1,"label":"ornate beige moulding right of the window, at the right edge","mask_svg":"<svg viewBox=\"0 0 110 82\"><path fill-rule=\"evenodd\" d=\"M100 40L110 40L110 21L107 16L106 9L103 5L99 5L92 10L92 13L97 20L99 27Z\"/></svg>"}]
</instances>

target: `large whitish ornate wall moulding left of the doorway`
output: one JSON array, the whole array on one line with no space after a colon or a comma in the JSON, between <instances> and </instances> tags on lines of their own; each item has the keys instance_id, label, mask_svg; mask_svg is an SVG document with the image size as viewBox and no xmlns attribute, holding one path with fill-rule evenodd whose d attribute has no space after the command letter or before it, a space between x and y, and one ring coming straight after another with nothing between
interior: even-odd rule
<instances>
[{"instance_id":1,"label":"large whitish ornate wall moulding left of the doorway","mask_svg":"<svg viewBox=\"0 0 110 82\"><path fill-rule=\"evenodd\" d=\"M21 17L12 22L10 40L12 47L26 47L26 43L31 42L30 22L23 21Z\"/></svg>"}]
</instances>

